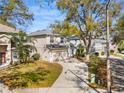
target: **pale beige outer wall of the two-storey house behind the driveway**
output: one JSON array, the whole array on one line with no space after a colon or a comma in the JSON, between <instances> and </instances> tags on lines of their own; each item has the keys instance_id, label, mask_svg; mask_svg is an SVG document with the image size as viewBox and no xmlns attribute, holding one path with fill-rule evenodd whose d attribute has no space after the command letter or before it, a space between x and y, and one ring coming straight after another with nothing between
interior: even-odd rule
<instances>
[{"instance_id":1,"label":"pale beige outer wall of the two-storey house behind the driveway","mask_svg":"<svg viewBox=\"0 0 124 93\"><path fill-rule=\"evenodd\" d=\"M40 54L41 59L53 62L57 59L67 58L67 50L55 52L55 51L51 51L48 48L46 48L46 45L49 45L49 44L61 44L61 37L59 36L38 36L34 38L36 39L35 47L37 49L37 53ZM53 42L51 42L51 39L53 39Z\"/></svg>"}]
</instances>

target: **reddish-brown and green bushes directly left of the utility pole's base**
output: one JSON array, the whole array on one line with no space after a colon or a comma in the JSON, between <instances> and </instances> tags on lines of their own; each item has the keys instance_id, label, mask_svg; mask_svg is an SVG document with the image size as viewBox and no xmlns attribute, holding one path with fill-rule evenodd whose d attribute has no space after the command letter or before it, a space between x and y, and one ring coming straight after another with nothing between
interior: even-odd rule
<instances>
[{"instance_id":1,"label":"reddish-brown and green bushes directly left of the utility pole's base","mask_svg":"<svg viewBox=\"0 0 124 93\"><path fill-rule=\"evenodd\" d=\"M89 80L92 79L91 74L95 74L95 83L106 87L106 62L101 60L98 56L90 56L90 63L88 64ZM99 81L99 82L98 82Z\"/></svg>"}]
</instances>

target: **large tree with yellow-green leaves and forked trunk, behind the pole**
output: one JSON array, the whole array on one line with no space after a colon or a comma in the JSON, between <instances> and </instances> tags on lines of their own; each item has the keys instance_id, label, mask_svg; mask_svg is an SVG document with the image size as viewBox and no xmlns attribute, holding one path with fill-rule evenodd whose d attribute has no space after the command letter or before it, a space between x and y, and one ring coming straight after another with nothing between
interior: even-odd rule
<instances>
[{"instance_id":1,"label":"large tree with yellow-green leaves and forked trunk, behind the pole","mask_svg":"<svg viewBox=\"0 0 124 93\"><path fill-rule=\"evenodd\" d=\"M99 37L106 30L105 1L101 0L57 0L57 7L66 12L66 20L75 24L81 32L81 39L86 48L86 58L89 61L89 53L93 39ZM120 13L119 2L111 2L110 26L112 18Z\"/></svg>"}]
</instances>

